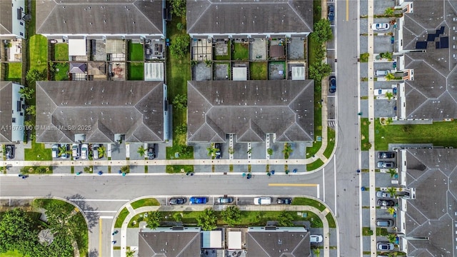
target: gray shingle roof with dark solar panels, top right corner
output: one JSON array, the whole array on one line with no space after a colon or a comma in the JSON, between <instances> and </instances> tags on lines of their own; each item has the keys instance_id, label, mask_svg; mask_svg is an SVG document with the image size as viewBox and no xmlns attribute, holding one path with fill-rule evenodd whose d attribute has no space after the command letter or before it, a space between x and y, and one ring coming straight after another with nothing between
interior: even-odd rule
<instances>
[{"instance_id":1,"label":"gray shingle roof with dark solar panels, top right corner","mask_svg":"<svg viewBox=\"0 0 457 257\"><path fill-rule=\"evenodd\" d=\"M444 34L457 36L455 3L449 0L414 1L414 12L404 15L403 49L415 50L417 41L444 26ZM454 6L453 6L454 5ZM439 37L438 39L439 40ZM406 119L452 119L457 117L457 49L436 49L428 42L426 52L408 52L405 68L413 69L414 80L405 81ZM398 109L401 111L403 106Z\"/></svg>"}]
</instances>

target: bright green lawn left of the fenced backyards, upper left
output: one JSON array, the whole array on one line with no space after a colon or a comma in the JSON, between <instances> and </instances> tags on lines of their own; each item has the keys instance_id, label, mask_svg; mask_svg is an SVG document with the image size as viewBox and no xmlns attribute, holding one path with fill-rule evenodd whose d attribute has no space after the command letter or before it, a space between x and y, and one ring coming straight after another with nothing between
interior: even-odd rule
<instances>
[{"instance_id":1,"label":"bright green lawn left of the fenced backyards, upper left","mask_svg":"<svg viewBox=\"0 0 457 257\"><path fill-rule=\"evenodd\" d=\"M34 35L29 40L30 69L47 70L48 41L45 36Z\"/></svg>"}]
</instances>

